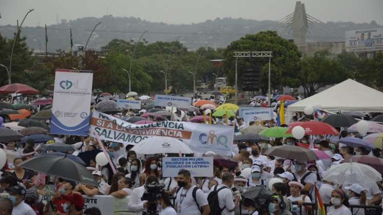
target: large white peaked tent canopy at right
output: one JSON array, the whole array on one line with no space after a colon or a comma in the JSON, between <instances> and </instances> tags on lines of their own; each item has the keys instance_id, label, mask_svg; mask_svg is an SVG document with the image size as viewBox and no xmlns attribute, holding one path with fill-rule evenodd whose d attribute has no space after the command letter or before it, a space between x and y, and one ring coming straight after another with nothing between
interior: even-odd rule
<instances>
[{"instance_id":1,"label":"large white peaked tent canopy at right","mask_svg":"<svg viewBox=\"0 0 383 215\"><path fill-rule=\"evenodd\" d=\"M301 111L319 104L325 111L383 112L383 93L347 79L333 87L287 106L287 111Z\"/></svg>"}]
</instances>

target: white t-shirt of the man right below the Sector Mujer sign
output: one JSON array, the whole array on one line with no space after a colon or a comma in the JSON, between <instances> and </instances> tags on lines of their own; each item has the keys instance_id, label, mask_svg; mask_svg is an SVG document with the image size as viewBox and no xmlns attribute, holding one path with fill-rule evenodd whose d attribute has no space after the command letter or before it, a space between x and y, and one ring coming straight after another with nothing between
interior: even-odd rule
<instances>
[{"instance_id":1,"label":"white t-shirt of the man right below the Sector Mujer sign","mask_svg":"<svg viewBox=\"0 0 383 215\"><path fill-rule=\"evenodd\" d=\"M199 215L201 214L197 204L195 204L195 201L193 199L193 189L195 186L191 186L188 190L185 190L184 188L181 188L175 199L175 204L177 205L177 214L189 214L189 215ZM206 194L201 190L197 189L195 193L195 197L197 200L197 203L199 207L208 205L208 199Z\"/></svg>"}]
</instances>

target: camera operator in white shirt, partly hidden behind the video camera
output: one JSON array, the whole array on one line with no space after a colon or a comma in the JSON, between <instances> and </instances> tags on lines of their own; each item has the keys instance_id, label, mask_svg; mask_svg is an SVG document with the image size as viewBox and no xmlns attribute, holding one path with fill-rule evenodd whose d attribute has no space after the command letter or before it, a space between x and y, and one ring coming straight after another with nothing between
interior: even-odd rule
<instances>
[{"instance_id":1,"label":"camera operator in white shirt, partly hidden behind the video camera","mask_svg":"<svg viewBox=\"0 0 383 215\"><path fill-rule=\"evenodd\" d=\"M151 183L157 183L158 180L155 176L149 176L145 182L146 185L149 185ZM145 187L140 186L133 190L132 195L130 197L130 201L128 204L128 210L136 212L136 215L142 215L143 211L148 208L148 201L143 201L141 198L144 195Z\"/></svg>"}]
</instances>

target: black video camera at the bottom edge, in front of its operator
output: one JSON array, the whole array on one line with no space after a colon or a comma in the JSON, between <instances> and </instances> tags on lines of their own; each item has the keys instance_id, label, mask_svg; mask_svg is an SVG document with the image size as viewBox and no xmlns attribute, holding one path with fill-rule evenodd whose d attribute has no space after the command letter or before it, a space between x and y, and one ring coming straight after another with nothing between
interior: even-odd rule
<instances>
[{"instance_id":1,"label":"black video camera at the bottom edge, in front of its operator","mask_svg":"<svg viewBox=\"0 0 383 215\"><path fill-rule=\"evenodd\" d=\"M146 184L145 186L146 192L144 192L142 201L148 201L148 209L143 212L143 214L155 215L157 213L157 201L161 199L164 195L164 187L165 184L158 184L156 182L152 182L151 184Z\"/></svg>"}]
</instances>

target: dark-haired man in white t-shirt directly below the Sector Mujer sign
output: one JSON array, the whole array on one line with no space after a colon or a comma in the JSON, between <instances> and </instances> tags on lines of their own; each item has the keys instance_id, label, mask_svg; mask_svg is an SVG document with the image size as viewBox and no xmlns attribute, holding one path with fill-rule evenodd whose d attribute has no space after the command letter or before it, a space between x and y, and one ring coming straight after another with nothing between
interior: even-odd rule
<instances>
[{"instance_id":1,"label":"dark-haired man in white t-shirt directly below the Sector Mujer sign","mask_svg":"<svg viewBox=\"0 0 383 215\"><path fill-rule=\"evenodd\" d=\"M182 169L178 172L177 183L179 188L175 195L175 209L178 215L208 215L210 213L205 193L196 186L192 186L188 170Z\"/></svg>"}]
</instances>

